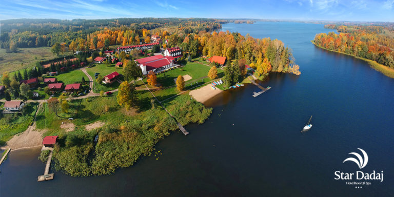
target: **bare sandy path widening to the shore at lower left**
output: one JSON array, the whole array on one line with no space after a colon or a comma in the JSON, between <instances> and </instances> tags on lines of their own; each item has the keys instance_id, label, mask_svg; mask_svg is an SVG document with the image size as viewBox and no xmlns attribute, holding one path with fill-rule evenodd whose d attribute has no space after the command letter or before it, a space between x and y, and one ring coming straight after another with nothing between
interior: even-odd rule
<instances>
[{"instance_id":1,"label":"bare sandy path widening to the shore at lower left","mask_svg":"<svg viewBox=\"0 0 394 197\"><path fill-rule=\"evenodd\" d=\"M38 105L38 109L36 113L34 114L34 123L33 125L30 125L26 131L20 133L19 135L14 135L11 140L9 140L4 147L1 147L2 149L4 148L11 148L11 150L16 150L16 149L21 149L21 148L30 148L30 147L36 147L36 146L41 146L43 142L43 133L36 129L36 124L35 124L35 117L38 112L38 110L41 110L41 103Z\"/></svg>"}]
</instances>

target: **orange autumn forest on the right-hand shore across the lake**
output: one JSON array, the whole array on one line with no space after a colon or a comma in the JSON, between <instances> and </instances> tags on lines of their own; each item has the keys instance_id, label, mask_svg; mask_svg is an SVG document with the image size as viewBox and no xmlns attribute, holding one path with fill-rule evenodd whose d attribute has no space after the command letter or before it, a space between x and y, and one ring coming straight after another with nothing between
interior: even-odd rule
<instances>
[{"instance_id":1,"label":"orange autumn forest on the right-hand shore across the lake","mask_svg":"<svg viewBox=\"0 0 394 197\"><path fill-rule=\"evenodd\" d=\"M325 28L336 29L340 33L319 33L314 37L314 44L394 68L392 27L325 25Z\"/></svg>"}]
</instances>

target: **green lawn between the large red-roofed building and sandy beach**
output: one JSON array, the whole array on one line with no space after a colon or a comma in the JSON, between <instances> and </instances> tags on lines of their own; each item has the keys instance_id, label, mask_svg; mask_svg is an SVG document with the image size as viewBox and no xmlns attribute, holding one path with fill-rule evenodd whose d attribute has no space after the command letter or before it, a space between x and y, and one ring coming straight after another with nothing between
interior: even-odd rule
<instances>
[{"instance_id":1,"label":"green lawn between the large red-roofed building and sandy beach","mask_svg":"<svg viewBox=\"0 0 394 197\"><path fill-rule=\"evenodd\" d=\"M210 81L208 78L204 78L208 75L209 69L210 69L209 66L201 65L194 62L188 62L182 68L172 69L157 75L157 82L162 84L164 87L175 86L174 78L178 77L179 75L186 75L186 74L192 77L191 80L186 81L186 84L194 83L198 81L201 82L202 80ZM218 69L218 76L223 77L223 75L224 75L223 70Z\"/></svg>"}]
</instances>

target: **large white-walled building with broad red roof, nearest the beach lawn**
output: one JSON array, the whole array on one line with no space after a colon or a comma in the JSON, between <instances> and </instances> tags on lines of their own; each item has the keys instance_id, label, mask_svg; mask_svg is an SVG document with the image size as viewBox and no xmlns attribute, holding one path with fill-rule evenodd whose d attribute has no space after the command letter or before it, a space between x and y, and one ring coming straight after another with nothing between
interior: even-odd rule
<instances>
[{"instance_id":1,"label":"large white-walled building with broad red roof, nearest the beach lawn","mask_svg":"<svg viewBox=\"0 0 394 197\"><path fill-rule=\"evenodd\" d=\"M154 55L135 60L142 70L142 74L148 74L150 70L160 72L174 67L174 58L171 56Z\"/></svg>"}]
</instances>

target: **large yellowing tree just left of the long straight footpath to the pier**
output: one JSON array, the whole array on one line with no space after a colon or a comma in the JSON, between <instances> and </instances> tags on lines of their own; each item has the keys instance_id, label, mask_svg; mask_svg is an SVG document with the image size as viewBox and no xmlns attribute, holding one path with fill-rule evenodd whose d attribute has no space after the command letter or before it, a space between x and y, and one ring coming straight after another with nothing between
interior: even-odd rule
<instances>
[{"instance_id":1,"label":"large yellowing tree just left of the long straight footpath to the pier","mask_svg":"<svg viewBox=\"0 0 394 197\"><path fill-rule=\"evenodd\" d=\"M126 110L129 110L133 106L135 101L134 90L134 86L130 85L127 81L119 85L116 101L120 106L124 106Z\"/></svg>"}]
</instances>

